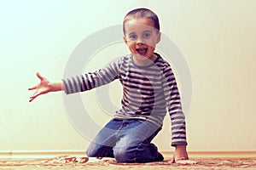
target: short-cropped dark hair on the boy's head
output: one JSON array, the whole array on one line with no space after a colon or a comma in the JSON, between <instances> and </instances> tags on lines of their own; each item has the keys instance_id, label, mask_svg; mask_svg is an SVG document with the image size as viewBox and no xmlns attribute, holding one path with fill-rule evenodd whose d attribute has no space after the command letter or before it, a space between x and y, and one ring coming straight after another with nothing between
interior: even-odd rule
<instances>
[{"instance_id":1,"label":"short-cropped dark hair on the boy's head","mask_svg":"<svg viewBox=\"0 0 256 170\"><path fill-rule=\"evenodd\" d=\"M148 8L136 8L131 10L128 14L125 15L125 19L123 21L123 31L125 34L125 22L127 20L137 20L137 19L150 19L154 22L154 28L157 31L160 31L160 23L156 14Z\"/></svg>"}]
</instances>

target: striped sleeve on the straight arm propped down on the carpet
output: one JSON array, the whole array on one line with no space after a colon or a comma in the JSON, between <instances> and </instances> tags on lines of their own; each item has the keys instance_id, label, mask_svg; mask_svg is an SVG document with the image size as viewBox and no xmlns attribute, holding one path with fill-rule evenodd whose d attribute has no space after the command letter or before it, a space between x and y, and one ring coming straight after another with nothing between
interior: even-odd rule
<instances>
[{"instance_id":1,"label":"striped sleeve on the straight arm propped down on the carpet","mask_svg":"<svg viewBox=\"0 0 256 170\"><path fill-rule=\"evenodd\" d=\"M170 65L164 69L163 89L166 98L166 108L171 118L172 146L187 145L186 123L183 114L177 82Z\"/></svg>"}]
</instances>

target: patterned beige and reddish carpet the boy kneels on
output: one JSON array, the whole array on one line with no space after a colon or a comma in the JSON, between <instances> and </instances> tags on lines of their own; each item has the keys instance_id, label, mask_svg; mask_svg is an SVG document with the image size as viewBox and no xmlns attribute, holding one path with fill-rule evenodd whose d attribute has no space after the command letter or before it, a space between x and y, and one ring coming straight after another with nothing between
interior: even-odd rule
<instances>
[{"instance_id":1,"label":"patterned beige and reddish carpet the boy kneels on","mask_svg":"<svg viewBox=\"0 0 256 170\"><path fill-rule=\"evenodd\" d=\"M170 159L165 161L151 163L117 163L113 159L103 158L80 158L73 156L58 156L54 158L40 159L0 159L0 169L189 169L189 170L207 170L207 169L256 169L256 158L190 158L195 164L170 163Z\"/></svg>"}]
</instances>

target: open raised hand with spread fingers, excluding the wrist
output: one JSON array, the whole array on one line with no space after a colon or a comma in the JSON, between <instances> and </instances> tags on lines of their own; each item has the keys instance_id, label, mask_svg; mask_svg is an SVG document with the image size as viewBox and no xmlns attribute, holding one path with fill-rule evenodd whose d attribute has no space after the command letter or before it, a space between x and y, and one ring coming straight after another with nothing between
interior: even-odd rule
<instances>
[{"instance_id":1,"label":"open raised hand with spread fingers, excluding the wrist","mask_svg":"<svg viewBox=\"0 0 256 170\"><path fill-rule=\"evenodd\" d=\"M29 102L32 102L33 99L36 99L41 94L47 94L50 92L49 81L39 73L37 73L37 77L40 79L40 83L33 88L28 88L28 90L36 90L36 92L30 97Z\"/></svg>"}]
</instances>

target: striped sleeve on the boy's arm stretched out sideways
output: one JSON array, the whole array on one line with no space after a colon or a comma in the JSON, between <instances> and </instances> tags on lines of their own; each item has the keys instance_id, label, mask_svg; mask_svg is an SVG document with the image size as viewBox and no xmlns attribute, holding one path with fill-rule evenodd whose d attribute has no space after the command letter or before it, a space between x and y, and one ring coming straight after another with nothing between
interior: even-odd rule
<instances>
[{"instance_id":1,"label":"striped sleeve on the boy's arm stretched out sideways","mask_svg":"<svg viewBox=\"0 0 256 170\"><path fill-rule=\"evenodd\" d=\"M119 78L119 65L120 59L104 66L98 71L62 79L64 91L66 94L74 94L113 82L113 80Z\"/></svg>"}]
</instances>

